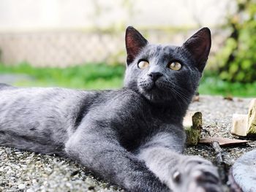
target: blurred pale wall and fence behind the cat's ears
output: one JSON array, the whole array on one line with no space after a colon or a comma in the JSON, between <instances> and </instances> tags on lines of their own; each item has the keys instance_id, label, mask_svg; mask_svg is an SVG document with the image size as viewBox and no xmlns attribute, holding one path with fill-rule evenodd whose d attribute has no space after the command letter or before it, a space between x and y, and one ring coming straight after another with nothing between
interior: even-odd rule
<instances>
[{"instance_id":1,"label":"blurred pale wall and fence behind the cat's ears","mask_svg":"<svg viewBox=\"0 0 256 192\"><path fill-rule=\"evenodd\" d=\"M232 1L0 0L0 61L36 66L124 62L124 30L132 25L151 42L181 43L212 28L221 44Z\"/></svg>"}]
</instances>

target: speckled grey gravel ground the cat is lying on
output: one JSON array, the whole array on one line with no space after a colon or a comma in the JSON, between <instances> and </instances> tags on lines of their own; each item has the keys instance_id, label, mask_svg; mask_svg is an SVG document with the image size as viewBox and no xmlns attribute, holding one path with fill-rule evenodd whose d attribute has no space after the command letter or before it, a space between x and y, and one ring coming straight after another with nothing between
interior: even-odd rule
<instances>
[{"instance_id":1,"label":"speckled grey gravel ground the cat is lying on","mask_svg":"<svg viewBox=\"0 0 256 192\"><path fill-rule=\"evenodd\" d=\"M230 134L233 113L246 114L250 99L223 99L200 96L189 110L203 112L205 136L236 138ZM256 141L237 147L223 147L225 162L230 166L246 151L256 149ZM214 161L207 145L188 147L187 154L202 155ZM227 185L224 184L227 188ZM122 191L98 180L83 166L66 158L0 147L0 191Z\"/></svg>"}]
</instances>

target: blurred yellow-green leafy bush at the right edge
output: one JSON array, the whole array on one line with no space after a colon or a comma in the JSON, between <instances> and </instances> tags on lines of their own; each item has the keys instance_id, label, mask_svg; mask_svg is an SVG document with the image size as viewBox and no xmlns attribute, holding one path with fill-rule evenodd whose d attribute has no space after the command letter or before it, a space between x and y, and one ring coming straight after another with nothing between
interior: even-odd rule
<instances>
[{"instance_id":1,"label":"blurred yellow-green leafy bush at the right edge","mask_svg":"<svg viewBox=\"0 0 256 192\"><path fill-rule=\"evenodd\" d=\"M256 1L236 0L236 13L227 17L231 28L225 47L219 51L219 77L229 82L256 80Z\"/></svg>"}]
</instances>

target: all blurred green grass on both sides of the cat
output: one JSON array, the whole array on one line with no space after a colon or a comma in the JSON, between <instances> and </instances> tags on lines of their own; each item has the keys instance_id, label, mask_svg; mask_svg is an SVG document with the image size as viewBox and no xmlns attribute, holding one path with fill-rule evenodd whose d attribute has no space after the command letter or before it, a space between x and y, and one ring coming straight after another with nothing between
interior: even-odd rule
<instances>
[{"instance_id":1,"label":"all blurred green grass on both sides of the cat","mask_svg":"<svg viewBox=\"0 0 256 192\"><path fill-rule=\"evenodd\" d=\"M20 80L18 86L59 86L65 88L109 89L120 88L123 85L125 66L110 66L106 64L86 64L59 68L37 68L29 64L4 66L0 64L0 74L28 74L31 80ZM239 83L225 82L218 74L204 72L199 87L200 94L222 96L256 96L256 82Z\"/></svg>"}]
</instances>

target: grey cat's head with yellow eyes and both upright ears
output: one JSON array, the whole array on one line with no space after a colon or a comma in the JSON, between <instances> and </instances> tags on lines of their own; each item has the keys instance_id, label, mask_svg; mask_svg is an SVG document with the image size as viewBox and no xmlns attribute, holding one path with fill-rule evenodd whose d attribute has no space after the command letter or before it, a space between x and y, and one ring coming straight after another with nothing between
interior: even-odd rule
<instances>
[{"instance_id":1,"label":"grey cat's head with yellow eyes and both upright ears","mask_svg":"<svg viewBox=\"0 0 256 192\"><path fill-rule=\"evenodd\" d=\"M181 47L152 45L135 29L126 31L127 71L124 85L154 103L188 104L211 48L211 32L201 28Z\"/></svg>"}]
</instances>

